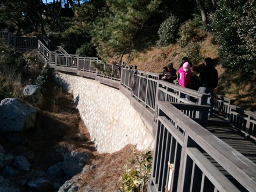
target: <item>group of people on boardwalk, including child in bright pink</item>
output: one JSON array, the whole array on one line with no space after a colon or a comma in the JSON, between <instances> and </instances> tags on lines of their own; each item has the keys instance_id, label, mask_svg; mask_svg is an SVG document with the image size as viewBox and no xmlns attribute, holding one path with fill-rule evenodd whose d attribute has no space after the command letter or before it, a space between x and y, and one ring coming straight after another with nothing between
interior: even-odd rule
<instances>
[{"instance_id":1,"label":"group of people on boardwalk, including child in bright pink","mask_svg":"<svg viewBox=\"0 0 256 192\"><path fill-rule=\"evenodd\" d=\"M212 66L212 58L204 59L204 67L202 67L199 76L198 67L193 66L187 57L182 59L179 70L173 68L173 63L163 67L162 80L173 83L177 79L180 86L209 94L208 105L211 106L208 116L212 116L214 106L214 89L218 85L218 71ZM186 99L196 102L194 98L186 95Z\"/></svg>"}]
</instances>

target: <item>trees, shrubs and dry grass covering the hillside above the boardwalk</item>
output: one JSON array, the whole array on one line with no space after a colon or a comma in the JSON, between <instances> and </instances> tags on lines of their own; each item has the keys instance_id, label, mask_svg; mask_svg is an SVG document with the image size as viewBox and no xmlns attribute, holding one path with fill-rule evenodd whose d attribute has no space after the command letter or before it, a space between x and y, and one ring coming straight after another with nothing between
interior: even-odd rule
<instances>
[{"instance_id":1,"label":"trees, shrubs and dry grass covering the hillside above the boardwalk","mask_svg":"<svg viewBox=\"0 0 256 192\"><path fill-rule=\"evenodd\" d=\"M220 77L215 92L255 111L255 0L68 0L66 7L57 1L48 3L1 1L1 29L36 35L53 50L61 45L69 54L97 56L107 63L125 62L155 73L169 62L177 69L183 56L195 66L211 57ZM24 70L37 65L33 54L18 59L15 51L1 50L1 57L13 57L12 62L1 59L1 63L9 63L0 66L4 75L6 69L14 70L6 66ZM30 78L35 80L36 76ZM2 79L2 95L19 95L6 81L6 77ZM15 82L19 84L19 80Z\"/></svg>"}]
</instances>

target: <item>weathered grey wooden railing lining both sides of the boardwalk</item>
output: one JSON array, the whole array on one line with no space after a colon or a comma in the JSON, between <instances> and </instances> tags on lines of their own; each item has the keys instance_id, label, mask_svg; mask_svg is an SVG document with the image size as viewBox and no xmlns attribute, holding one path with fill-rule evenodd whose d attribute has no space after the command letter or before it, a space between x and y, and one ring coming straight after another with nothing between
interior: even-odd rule
<instances>
[{"instance_id":1,"label":"weathered grey wooden railing lining both sides of the boardwalk","mask_svg":"<svg viewBox=\"0 0 256 192\"><path fill-rule=\"evenodd\" d=\"M208 94L167 83L159 74L137 70L136 66L70 55L61 47L50 51L41 41L37 49L47 59L48 67L118 88L153 127L154 163L148 191L255 191L255 164L204 129ZM215 97L214 109L231 126L256 140L254 112L244 111L233 105L232 99L220 95Z\"/></svg>"}]
</instances>

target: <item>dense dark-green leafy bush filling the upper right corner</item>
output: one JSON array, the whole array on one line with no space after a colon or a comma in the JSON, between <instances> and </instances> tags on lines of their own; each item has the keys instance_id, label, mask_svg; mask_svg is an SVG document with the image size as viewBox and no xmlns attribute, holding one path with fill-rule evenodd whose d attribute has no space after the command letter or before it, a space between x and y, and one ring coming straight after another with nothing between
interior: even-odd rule
<instances>
[{"instance_id":1,"label":"dense dark-green leafy bush filling the upper right corner","mask_svg":"<svg viewBox=\"0 0 256 192\"><path fill-rule=\"evenodd\" d=\"M219 56L226 69L256 74L256 1L218 1L211 21Z\"/></svg>"}]
</instances>

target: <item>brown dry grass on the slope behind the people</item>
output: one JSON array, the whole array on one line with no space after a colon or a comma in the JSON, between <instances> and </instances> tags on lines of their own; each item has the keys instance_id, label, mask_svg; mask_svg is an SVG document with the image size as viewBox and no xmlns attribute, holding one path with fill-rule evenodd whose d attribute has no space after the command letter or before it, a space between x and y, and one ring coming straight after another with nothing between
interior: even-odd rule
<instances>
[{"instance_id":1,"label":"brown dry grass on the slope behind the people","mask_svg":"<svg viewBox=\"0 0 256 192\"><path fill-rule=\"evenodd\" d=\"M255 76L242 76L239 73L232 73L222 68L219 62L218 45L214 44L214 36L211 33L201 35L202 57L211 57L219 74L219 84L215 90L216 94L224 95L234 99L234 104L249 111L256 111ZM158 49L151 48L148 51L136 53L134 60L128 65L137 65L138 70L152 73L161 73L163 66L173 63L175 69L179 69L182 51L179 45L169 45Z\"/></svg>"}]
</instances>

